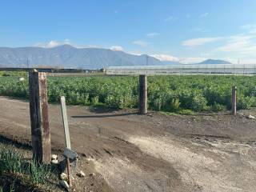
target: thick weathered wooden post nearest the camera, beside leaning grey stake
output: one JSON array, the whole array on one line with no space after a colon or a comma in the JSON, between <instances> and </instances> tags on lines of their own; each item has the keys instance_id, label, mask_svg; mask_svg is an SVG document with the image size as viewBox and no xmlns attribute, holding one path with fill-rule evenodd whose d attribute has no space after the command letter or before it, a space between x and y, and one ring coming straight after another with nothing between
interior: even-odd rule
<instances>
[{"instance_id":1,"label":"thick weathered wooden post nearest the camera, beside leaning grey stake","mask_svg":"<svg viewBox=\"0 0 256 192\"><path fill-rule=\"evenodd\" d=\"M50 163L51 149L46 73L30 72L29 83L33 159L39 163Z\"/></svg>"}]
</instances>

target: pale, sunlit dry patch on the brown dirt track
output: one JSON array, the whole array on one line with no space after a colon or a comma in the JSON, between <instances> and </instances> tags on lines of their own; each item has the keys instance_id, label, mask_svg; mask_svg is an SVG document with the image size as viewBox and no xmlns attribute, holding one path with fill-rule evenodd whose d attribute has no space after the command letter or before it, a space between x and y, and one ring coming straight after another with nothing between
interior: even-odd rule
<instances>
[{"instance_id":1,"label":"pale, sunlit dry patch on the brown dirt track","mask_svg":"<svg viewBox=\"0 0 256 192\"><path fill-rule=\"evenodd\" d=\"M243 154L247 156L249 150L246 148L249 147L251 149L250 146L240 146L239 153L239 151L234 151L231 148L227 150L228 147L223 144L222 149L224 148L224 151L220 147L206 149L202 146L200 151L191 150L190 147L184 146L181 142L168 137L150 138L135 136L130 138L129 142L139 146L147 154L170 162L174 169L181 175L183 182L201 186L202 191L226 192L254 190L255 185L253 184L253 180L256 178L256 166L246 166L246 161L242 158L240 158L242 162L239 162L238 165L234 161L236 159L234 153L238 153L236 155ZM190 142L190 145L193 146L194 143ZM238 143L229 143L227 145L238 146ZM203 148L206 150L203 150ZM240 168L237 166L242 166L242 169L239 171ZM242 177L237 177L234 174L236 171L241 172ZM248 178L245 178L247 175L250 175L250 181L247 180Z\"/></svg>"}]
</instances>

